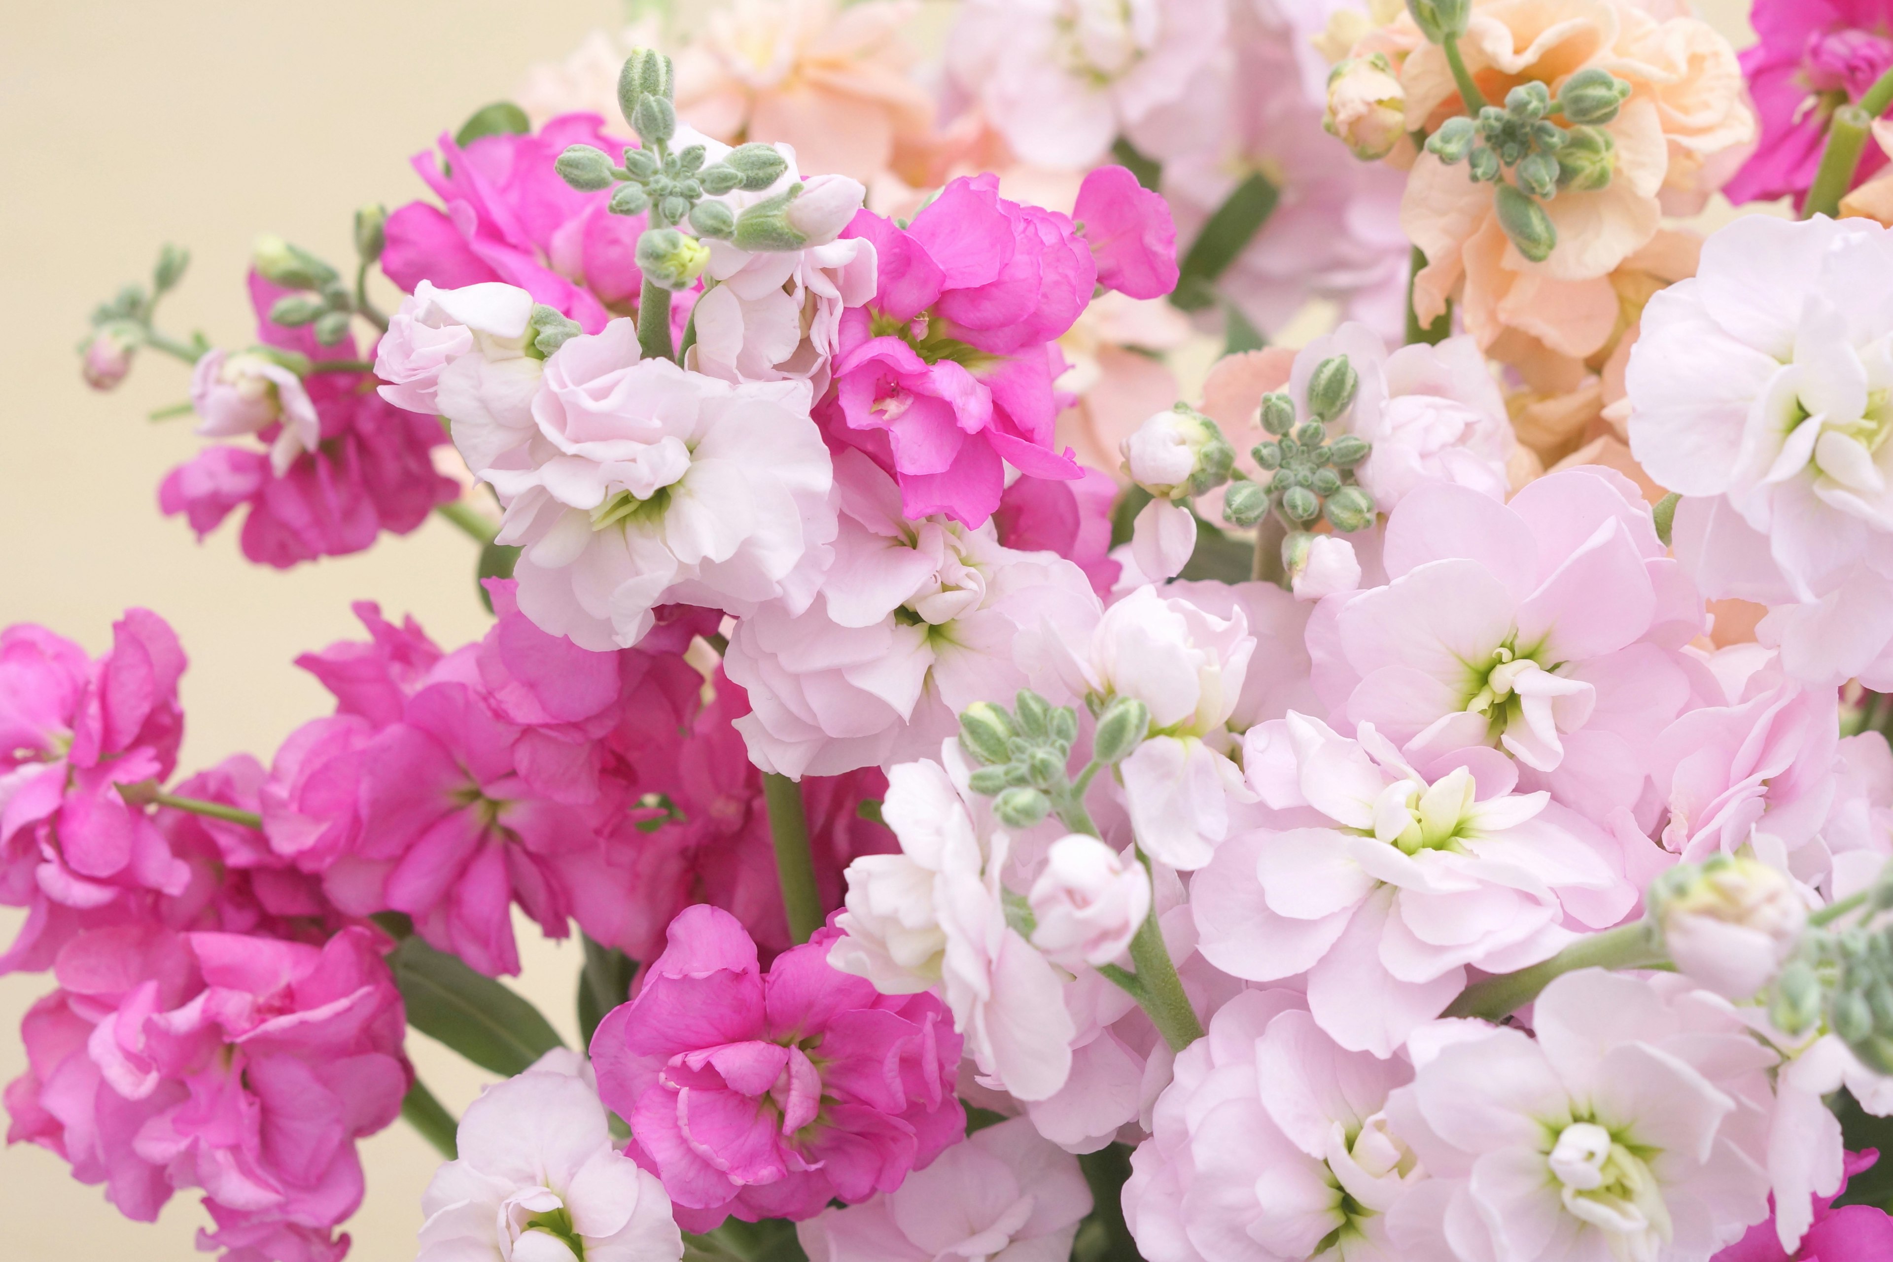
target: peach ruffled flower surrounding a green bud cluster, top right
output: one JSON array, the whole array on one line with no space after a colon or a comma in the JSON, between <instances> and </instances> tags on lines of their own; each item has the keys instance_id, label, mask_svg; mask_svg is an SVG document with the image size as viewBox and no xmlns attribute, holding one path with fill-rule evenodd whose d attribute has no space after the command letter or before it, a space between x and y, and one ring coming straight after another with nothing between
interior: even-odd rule
<instances>
[{"instance_id":1,"label":"peach ruffled flower surrounding a green bud cluster, top right","mask_svg":"<svg viewBox=\"0 0 1893 1262\"><path fill-rule=\"evenodd\" d=\"M1416 278L1422 320L1458 299L1465 329L1499 358L1550 354L1584 361L1622 331L1617 272L1662 227L1666 210L1700 206L1755 136L1734 49L1702 21L1658 21L1632 0L1475 0L1460 42L1488 100L1533 79L1554 93L1575 72L1603 68L1632 85L1605 127L1617 146L1609 187L1545 202L1558 248L1528 261L1505 237L1494 187L1420 153L1401 223L1429 263ZM1355 45L1401 64L1408 129L1461 112L1444 53L1401 17ZM1513 335L1513 346L1501 339ZM1524 339L1522 342L1518 339Z\"/></svg>"}]
</instances>

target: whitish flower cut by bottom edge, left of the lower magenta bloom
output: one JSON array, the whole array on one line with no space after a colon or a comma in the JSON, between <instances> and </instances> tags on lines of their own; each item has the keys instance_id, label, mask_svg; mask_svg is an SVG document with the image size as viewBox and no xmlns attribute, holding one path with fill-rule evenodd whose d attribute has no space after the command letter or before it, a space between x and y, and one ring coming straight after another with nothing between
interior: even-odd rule
<instances>
[{"instance_id":1,"label":"whitish flower cut by bottom edge, left of the lower magenta bloom","mask_svg":"<svg viewBox=\"0 0 1893 1262\"><path fill-rule=\"evenodd\" d=\"M475 1099L422 1198L416 1262L676 1262L664 1184L611 1145L598 1092L541 1061Z\"/></svg>"}]
</instances>

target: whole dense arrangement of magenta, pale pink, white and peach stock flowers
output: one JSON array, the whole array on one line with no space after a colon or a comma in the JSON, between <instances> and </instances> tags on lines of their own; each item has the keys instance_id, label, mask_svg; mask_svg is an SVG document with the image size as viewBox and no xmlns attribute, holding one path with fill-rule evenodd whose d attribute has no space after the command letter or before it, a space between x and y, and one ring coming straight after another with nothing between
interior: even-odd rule
<instances>
[{"instance_id":1,"label":"whole dense arrangement of magenta, pale pink, white and peach stock flowers","mask_svg":"<svg viewBox=\"0 0 1893 1262\"><path fill-rule=\"evenodd\" d=\"M248 346L167 250L83 346L193 365L161 509L443 517L494 622L184 780L157 613L0 634L9 1141L231 1262L398 1116L422 1262L1893 1256L1893 6L1753 21L738 0Z\"/></svg>"}]
</instances>

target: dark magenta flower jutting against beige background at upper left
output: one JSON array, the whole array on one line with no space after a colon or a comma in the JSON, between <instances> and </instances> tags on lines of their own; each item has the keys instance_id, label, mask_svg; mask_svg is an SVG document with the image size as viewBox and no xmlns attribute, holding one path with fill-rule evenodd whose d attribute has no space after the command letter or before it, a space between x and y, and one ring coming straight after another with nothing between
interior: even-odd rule
<instances>
[{"instance_id":1,"label":"dark magenta flower jutting against beige background at upper left","mask_svg":"<svg viewBox=\"0 0 1893 1262\"><path fill-rule=\"evenodd\" d=\"M284 293L250 276L261 342L316 361L358 356L354 339L320 346L309 329L271 324L269 308ZM295 448L299 454L278 473L269 452L284 424L276 420L256 435L263 447L214 445L172 469L157 490L159 509L167 517L182 513L203 537L248 505L242 552L276 570L360 552L382 530L415 530L433 505L460 494L428 456L447 431L432 416L394 407L367 388L371 382L365 373L312 373L303 388L320 420L314 450Z\"/></svg>"}]
</instances>

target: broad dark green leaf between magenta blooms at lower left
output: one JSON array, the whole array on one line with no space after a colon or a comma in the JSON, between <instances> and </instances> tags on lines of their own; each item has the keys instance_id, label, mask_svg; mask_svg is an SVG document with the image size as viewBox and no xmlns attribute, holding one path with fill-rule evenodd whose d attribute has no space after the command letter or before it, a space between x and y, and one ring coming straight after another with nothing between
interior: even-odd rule
<instances>
[{"instance_id":1,"label":"broad dark green leaf between magenta blooms at lower left","mask_svg":"<svg viewBox=\"0 0 1893 1262\"><path fill-rule=\"evenodd\" d=\"M564 1046L538 1008L473 973L458 955L407 938L388 955L388 965L407 1003L407 1024L483 1069L513 1077Z\"/></svg>"}]
</instances>

